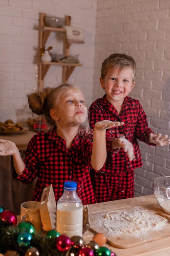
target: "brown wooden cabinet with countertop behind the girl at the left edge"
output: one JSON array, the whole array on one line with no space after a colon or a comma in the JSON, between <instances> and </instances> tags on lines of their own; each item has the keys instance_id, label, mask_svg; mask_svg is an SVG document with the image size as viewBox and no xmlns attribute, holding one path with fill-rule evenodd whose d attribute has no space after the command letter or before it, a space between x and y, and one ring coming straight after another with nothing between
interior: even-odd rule
<instances>
[{"instance_id":1,"label":"brown wooden cabinet with countertop behind the girl at the left edge","mask_svg":"<svg viewBox=\"0 0 170 256\"><path fill-rule=\"evenodd\" d=\"M30 139L36 132L27 130L18 135L1 135L1 139L13 141L20 154L24 158L24 151ZM22 150L22 151L21 151ZM12 178L13 158L11 156L0 156L0 205L7 210L20 214L20 204L32 200L36 180L31 184L22 184Z\"/></svg>"}]
</instances>

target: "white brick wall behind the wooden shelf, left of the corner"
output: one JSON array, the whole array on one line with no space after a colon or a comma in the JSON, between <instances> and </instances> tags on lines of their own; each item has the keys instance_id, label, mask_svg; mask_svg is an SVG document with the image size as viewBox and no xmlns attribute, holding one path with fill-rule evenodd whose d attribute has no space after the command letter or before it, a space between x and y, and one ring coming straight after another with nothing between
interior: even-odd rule
<instances>
[{"instance_id":1,"label":"white brick wall behind the wooden shelf, left of the corner","mask_svg":"<svg viewBox=\"0 0 170 256\"><path fill-rule=\"evenodd\" d=\"M35 59L38 52L39 12L49 16L71 16L71 25L84 31L85 43L71 45L72 55L80 54L83 67L76 67L69 82L84 90L88 106L92 102L95 58L97 0L1 0L0 1L0 121L26 121L32 114L26 94L37 88ZM59 39L59 40L57 40ZM62 37L51 33L46 46L62 53ZM62 81L62 67L51 66L46 86Z\"/></svg>"}]
</instances>

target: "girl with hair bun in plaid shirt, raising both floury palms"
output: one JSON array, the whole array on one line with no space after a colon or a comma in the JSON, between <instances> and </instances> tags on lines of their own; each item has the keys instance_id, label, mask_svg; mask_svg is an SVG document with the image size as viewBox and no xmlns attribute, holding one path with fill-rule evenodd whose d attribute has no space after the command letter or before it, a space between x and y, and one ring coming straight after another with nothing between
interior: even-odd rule
<instances>
[{"instance_id":1,"label":"girl with hair bun in plaid shirt, raising both floury palms","mask_svg":"<svg viewBox=\"0 0 170 256\"><path fill-rule=\"evenodd\" d=\"M29 141L24 162L15 144L0 139L0 155L13 155L13 177L24 184L38 177L33 200L40 201L44 187L52 184L55 200L63 193L65 181L77 182L77 194L83 204L96 202L89 168L100 170L106 161L106 129L123 123L104 120L94 132L84 127L87 108L79 88L64 84L45 88L28 96L29 107L44 115L49 128Z\"/></svg>"}]
</instances>

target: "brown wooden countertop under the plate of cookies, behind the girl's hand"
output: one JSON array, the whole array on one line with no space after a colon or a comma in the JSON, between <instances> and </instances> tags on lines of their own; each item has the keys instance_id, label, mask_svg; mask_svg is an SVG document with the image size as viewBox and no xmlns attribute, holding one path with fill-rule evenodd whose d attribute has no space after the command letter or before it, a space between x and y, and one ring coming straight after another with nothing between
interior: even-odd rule
<instances>
[{"instance_id":1,"label":"brown wooden countertop under the plate of cookies, behind the girl's hand","mask_svg":"<svg viewBox=\"0 0 170 256\"><path fill-rule=\"evenodd\" d=\"M18 135L2 135L0 134L1 139L13 141L19 150L26 150L26 147L30 141L30 139L35 135L36 132L27 130L22 134Z\"/></svg>"}]
</instances>

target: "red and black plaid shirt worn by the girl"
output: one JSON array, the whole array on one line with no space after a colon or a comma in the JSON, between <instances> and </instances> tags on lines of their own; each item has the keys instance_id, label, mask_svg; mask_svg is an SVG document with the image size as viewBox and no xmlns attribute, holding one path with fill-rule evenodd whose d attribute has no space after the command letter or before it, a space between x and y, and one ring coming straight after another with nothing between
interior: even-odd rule
<instances>
[{"instance_id":1,"label":"red and black plaid shirt worn by the girl","mask_svg":"<svg viewBox=\"0 0 170 256\"><path fill-rule=\"evenodd\" d=\"M69 149L55 130L38 132L27 146L24 171L18 176L14 171L13 177L24 184L38 177L33 194L35 201L40 201L43 189L52 184L57 202L63 193L63 183L75 181L77 195L83 204L95 203L89 174L92 144L93 132L84 134L81 131Z\"/></svg>"}]
</instances>

